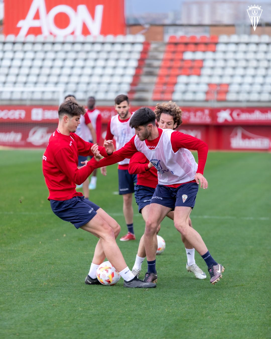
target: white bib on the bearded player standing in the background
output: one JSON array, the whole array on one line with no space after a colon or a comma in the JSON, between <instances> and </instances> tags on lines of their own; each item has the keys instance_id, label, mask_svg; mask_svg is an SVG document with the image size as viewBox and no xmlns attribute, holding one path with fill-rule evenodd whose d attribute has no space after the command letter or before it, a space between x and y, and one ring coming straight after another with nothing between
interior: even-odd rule
<instances>
[{"instance_id":1,"label":"white bib on the bearded player standing in the background","mask_svg":"<svg viewBox=\"0 0 271 339\"><path fill-rule=\"evenodd\" d=\"M131 119L131 117L130 117ZM110 122L110 131L111 133L114 135L114 137L116 138L116 149L118 151L118 149L120 149L121 147L123 147L128 141L130 141L132 139L132 137L134 136L134 128L131 128L129 126L129 122L130 119L128 121L125 122L120 122L119 120L119 115L114 115L111 118L111 122ZM128 164L130 161L130 159L124 159L120 162L118 162L120 165L126 165Z\"/></svg>"}]
</instances>

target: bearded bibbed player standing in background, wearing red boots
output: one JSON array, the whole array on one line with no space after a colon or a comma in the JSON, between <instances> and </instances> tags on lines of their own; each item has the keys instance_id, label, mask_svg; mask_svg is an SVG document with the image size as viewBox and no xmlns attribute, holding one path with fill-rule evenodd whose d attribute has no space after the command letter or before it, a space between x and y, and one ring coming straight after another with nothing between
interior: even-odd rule
<instances>
[{"instance_id":1,"label":"bearded bibbed player standing in background, wearing red boots","mask_svg":"<svg viewBox=\"0 0 271 339\"><path fill-rule=\"evenodd\" d=\"M115 109L118 114L108 122L105 142L115 137L118 150L134 136L134 129L129 126L132 113L129 112L130 104L126 95L121 94L116 97ZM129 174L128 165L129 159L120 161L118 165L119 194L123 197L123 215L128 228L128 233L120 238L121 241L136 239L133 230L132 193L134 184L137 183L137 175Z\"/></svg>"}]
</instances>

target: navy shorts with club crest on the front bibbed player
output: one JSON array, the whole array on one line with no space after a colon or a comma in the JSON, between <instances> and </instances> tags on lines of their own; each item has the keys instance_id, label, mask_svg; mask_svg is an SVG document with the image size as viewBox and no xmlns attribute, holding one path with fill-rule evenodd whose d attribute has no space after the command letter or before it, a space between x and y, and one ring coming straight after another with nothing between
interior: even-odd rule
<instances>
[{"instance_id":1,"label":"navy shorts with club crest on the front bibbed player","mask_svg":"<svg viewBox=\"0 0 271 339\"><path fill-rule=\"evenodd\" d=\"M194 207L199 185L189 182L177 188L157 185L151 203L160 204L172 208L179 206Z\"/></svg>"}]
</instances>

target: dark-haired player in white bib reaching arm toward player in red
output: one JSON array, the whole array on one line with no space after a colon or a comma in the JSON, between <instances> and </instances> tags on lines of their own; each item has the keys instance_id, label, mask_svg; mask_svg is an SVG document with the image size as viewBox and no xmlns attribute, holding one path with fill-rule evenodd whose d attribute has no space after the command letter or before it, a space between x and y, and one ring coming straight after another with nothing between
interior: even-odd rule
<instances>
[{"instance_id":1,"label":"dark-haired player in white bib reaching arm toward player in red","mask_svg":"<svg viewBox=\"0 0 271 339\"><path fill-rule=\"evenodd\" d=\"M163 112L167 110L173 112L180 108L170 101L162 109ZM130 127L135 128L136 135L110 158L97 163L97 167L116 163L139 151L158 171L158 185L151 199L144 233L148 264L144 281L157 280L156 232L165 216L174 209L174 226L202 256L208 266L210 282L215 284L222 277L224 267L212 258L200 234L190 227L188 222L199 183L203 189L208 187L208 182L203 176L208 153L207 144L178 131L157 128L155 114L148 107L142 107L133 114ZM197 151L198 165L189 149Z\"/></svg>"}]
</instances>

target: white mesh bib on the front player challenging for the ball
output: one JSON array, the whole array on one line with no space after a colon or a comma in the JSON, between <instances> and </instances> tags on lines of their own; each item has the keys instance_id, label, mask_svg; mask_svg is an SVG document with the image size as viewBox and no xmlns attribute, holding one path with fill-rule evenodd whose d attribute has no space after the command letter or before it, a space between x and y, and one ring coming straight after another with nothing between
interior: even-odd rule
<instances>
[{"instance_id":1,"label":"white mesh bib on the front player challenging for the ball","mask_svg":"<svg viewBox=\"0 0 271 339\"><path fill-rule=\"evenodd\" d=\"M171 146L172 129L163 129L157 146L149 149L145 141L138 136L134 138L134 144L139 152L152 162L158 171L158 183L160 185L173 185L194 180L197 171L197 163L192 153L186 148L180 148L176 153Z\"/></svg>"}]
</instances>

